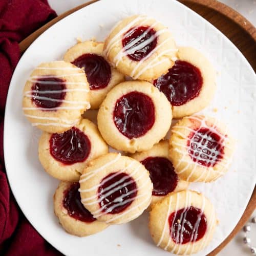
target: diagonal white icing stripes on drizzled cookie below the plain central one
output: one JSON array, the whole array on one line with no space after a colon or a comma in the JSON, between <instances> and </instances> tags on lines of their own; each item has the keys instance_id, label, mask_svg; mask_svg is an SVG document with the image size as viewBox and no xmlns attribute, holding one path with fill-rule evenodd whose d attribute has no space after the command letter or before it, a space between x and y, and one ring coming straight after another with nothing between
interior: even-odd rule
<instances>
[{"instance_id":1,"label":"diagonal white icing stripes on drizzled cookie below the plain central one","mask_svg":"<svg viewBox=\"0 0 256 256\"><path fill-rule=\"evenodd\" d=\"M80 183L83 183L85 181L88 181L89 179L91 179L92 177L94 177L97 173L101 172L104 168L114 164L116 161L119 160L119 158L121 157L121 154L119 153L113 160L109 161L108 163L102 165L101 167L95 169L95 170L92 170L88 173L85 173L83 175L81 175L81 180L79 181ZM113 179L114 177L116 177L117 175L119 175L120 173L123 173L126 169L128 168L131 168L134 164L136 163L136 161L132 161L129 165L127 165L125 168L119 170L118 172L112 174L110 177L106 178L103 182L100 183L100 185L103 185L104 183L110 181L111 179ZM134 175L136 173L139 173L139 169L141 168L141 165L139 165L138 167L136 167L133 172L131 173L131 177L134 177ZM129 185L129 184L132 184L134 182L136 182L136 184L138 184L137 182L141 179L143 179L144 175L147 175L146 172L142 172L142 174L140 174L135 180L131 180L131 181L127 181L125 182L125 180L129 179L130 176L127 176L127 177L123 177L122 179L116 181L115 183L109 185L108 187L105 187L104 189L102 189L100 191L100 197L96 194L92 197L89 197L89 198L83 198L81 200L81 202L85 205L85 206L88 206L88 205L93 205L93 204L99 204L100 202L102 202L106 197L112 195L113 193L115 193L115 191L118 191L119 189ZM84 177L84 178L83 178ZM124 183L123 183L124 182ZM106 215L108 214L109 212L113 211L115 208L119 207L119 206L122 206L122 205L125 205L129 202L132 202L134 201L134 198L128 198L124 201L122 201L125 197L135 193L136 191L140 191L143 187L145 186L148 186L148 182L151 182L150 179L147 179L147 182L145 182L143 185L141 185L140 187L137 187L136 189L133 189L131 191L127 191L127 193L119 196L118 198L115 199L115 203L113 206L109 207L106 211L103 211L103 209L106 207L106 206L109 206L111 205L113 202L109 202L108 204L105 204L103 205L102 207L99 207L96 211L94 212L91 212L92 215L94 216L94 218L99 218L100 216L103 216L103 215ZM123 184L122 184L123 183ZM89 191L92 191L92 190L95 190L97 189L99 185L95 185L95 186L92 186L90 188L87 188L87 189L80 189L79 188L79 191L80 193L84 193L84 192L89 192ZM151 198L151 195L150 197L148 197L148 193L144 193L144 194L139 194L136 196L136 199L138 198L143 198L143 197L146 197L146 200L143 200L139 205L141 204L144 204L147 200L150 200ZM127 214L127 212L130 212L132 210L134 210L135 208L139 207L139 205L135 205L133 207L131 207L129 210L126 210L123 214L118 214L118 216L114 217L114 218L111 218L111 220L109 220L109 222L115 220L115 219L118 219L120 218L121 216L123 216L124 214ZM138 214L136 214L138 215ZM134 216L132 218L135 218Z\"/></svg>"}]
</instances>

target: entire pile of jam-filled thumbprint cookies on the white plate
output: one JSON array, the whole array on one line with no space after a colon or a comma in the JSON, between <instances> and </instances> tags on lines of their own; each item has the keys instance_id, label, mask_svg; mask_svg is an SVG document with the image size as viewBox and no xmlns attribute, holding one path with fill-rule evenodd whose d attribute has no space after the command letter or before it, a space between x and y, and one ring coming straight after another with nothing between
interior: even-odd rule
<instances>
[{"instance_id":1,"label":"entire pile of jam-filled thumbprint cookies on the white plate","mask_svg":"<svg viewBox=\"0 0 256 256\"><path fill-rule=\"evenodd\" d=\"M226 126L195 115L215 90L210 62L144 15L121 20L104 42L78 42L63 60L39 65L23 110L43 131L42 166L61 181L54 211L63 228L88 236L147 209L157 246L176 254L207 246L214 206L188 186L215 181L231 163ZM98 110L97 125L82 116L90 110ZM171 127L173 118L180 120Z\"/></svg>"}]
</instances>

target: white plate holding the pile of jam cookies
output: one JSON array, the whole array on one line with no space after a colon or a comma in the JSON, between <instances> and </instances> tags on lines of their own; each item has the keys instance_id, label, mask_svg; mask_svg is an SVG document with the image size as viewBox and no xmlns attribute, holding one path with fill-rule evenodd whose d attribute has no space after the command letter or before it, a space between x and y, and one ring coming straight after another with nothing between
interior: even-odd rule
<instances>
[{"instance_id":1,"label":"white plate holding the pile of jam cookies","mask_svg":"<svg viewBox=\"0 0 256 256\"><path fill-rule=\"evenodd\" d=\"M146 212L131 223L111 226L87 238L66 233L53 213L58 181L48 176L38 161L40 131L22 113L26 78L40 62L61 59L77 36L103 40L118 20L138 13L167 25L178 45L198 48L209 57L219 72L218 90L203 113L228 123L238 138L238 150L229 172L216 182L191 186L211 200L220 221L214 239L198 255L206 255L228 236L241 218L255 184L255 75L244 56L215 27L176 1L99 1L62 19L33 42L16 67L6 105L5 163L13 194L41 236L67 255L166 255L150 238ZM218 111L212 111L214 108Z\"/></svg>"}]
</instances>

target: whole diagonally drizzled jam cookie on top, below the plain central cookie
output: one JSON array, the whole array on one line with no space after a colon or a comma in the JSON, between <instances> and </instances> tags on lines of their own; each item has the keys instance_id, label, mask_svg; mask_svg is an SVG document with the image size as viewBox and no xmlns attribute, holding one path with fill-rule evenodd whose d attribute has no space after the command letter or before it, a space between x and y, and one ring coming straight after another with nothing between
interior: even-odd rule
<instances>
[{"instance_id":1,"label":"whole diagonally drizzled jam cookie on top, below the plain central cookie","mask_svg":"<svg viewBox=\"0 0 256 256\"><path fill-rule=\"evenodd\" d=\"M120 153L92 160L79 182L84 207L106 223L132 221L151 202L153 185L144 165Z\"/></svg>"}]
</instances>

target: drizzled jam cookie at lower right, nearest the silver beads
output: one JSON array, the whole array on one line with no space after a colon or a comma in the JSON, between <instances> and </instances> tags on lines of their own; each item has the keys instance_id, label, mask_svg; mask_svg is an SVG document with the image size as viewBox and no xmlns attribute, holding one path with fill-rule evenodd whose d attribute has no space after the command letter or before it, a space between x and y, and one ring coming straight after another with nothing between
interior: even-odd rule
<instances>
[{"instance_id":1,"label":"drizzled jam cookie at lower right, nearest the silver beads","mask_svg":"<svg viewBox=\"0 0 256 256\"><path fill-rule=\"evenodd\" d=\"M183 190L156 203L150 212L151 236L160 248L189 255L206 247L217 224L214 206L202 194Z\"/></svg>"}]
</instances>

